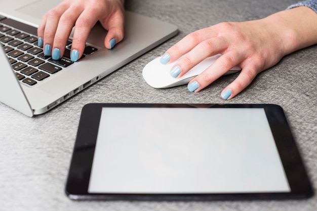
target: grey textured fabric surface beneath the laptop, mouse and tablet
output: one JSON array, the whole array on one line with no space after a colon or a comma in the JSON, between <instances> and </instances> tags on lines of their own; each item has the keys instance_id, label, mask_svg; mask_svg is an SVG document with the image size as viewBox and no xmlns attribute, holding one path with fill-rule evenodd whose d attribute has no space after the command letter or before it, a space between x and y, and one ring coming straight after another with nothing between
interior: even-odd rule
<instances>
[{"instance_id":1,"label":"grey textured fabric surface beneath the laptop, mouse and tablet","mask_svg":"<svg viewBox=\"0 0 317 211\"><path fill-rule=\"evenodd\" d=\"M285 201L77 202L64 193L81 109L91 102L279 104L316 190L316 45L286 56L229 101L222 100L220 92L237 75L220 78L201 92L191 93L186 86L153 89L141 74L149 61L194 30L224 21L262 18L295 2L127 0L128 10L174 23L180 33L47 114L28 118L0 103L0 210L316 210L317 196Z\"/></svg>"}]
</instances>

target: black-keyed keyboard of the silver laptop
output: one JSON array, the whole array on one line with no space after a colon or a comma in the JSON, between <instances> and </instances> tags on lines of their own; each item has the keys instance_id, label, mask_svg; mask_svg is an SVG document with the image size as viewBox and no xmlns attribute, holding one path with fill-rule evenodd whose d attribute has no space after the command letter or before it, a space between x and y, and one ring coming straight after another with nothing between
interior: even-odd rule
<instances>
[{"instance_id":1,"label":"black-keyed keyboard of the silver laptop","mask_svg":"<svg viewBox=\"0 0 317 211\"><path fill-rule=\"evenodd\" d=\"M63 57L53 60L45 56L43 48L37 45L36 34L35 27L0 16L0 44L18 80L28 86L41 83L73 64L70 61L70 39L67 41ZM82 58L77 62L96 51L97 48L86 45Z\"/></svg>"}]
</instances>

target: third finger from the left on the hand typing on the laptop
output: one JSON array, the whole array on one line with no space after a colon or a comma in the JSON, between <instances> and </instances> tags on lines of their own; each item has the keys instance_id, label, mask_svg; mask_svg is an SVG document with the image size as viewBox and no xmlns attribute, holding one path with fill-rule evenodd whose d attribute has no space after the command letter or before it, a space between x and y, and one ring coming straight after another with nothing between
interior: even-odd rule
<instances>
[{"instance_id":1,"label":"third finger from the left on the hand typing on the laptop","mask_svg":"<svg viewBox=\"0 0 317 211\"><path fill-rule=\"evenodd\" d=\"M61 15L54 37L52 59L59 60L64 55L66 42L82 10L80 7L71 7Z\"/></svg>"}]
</instances>

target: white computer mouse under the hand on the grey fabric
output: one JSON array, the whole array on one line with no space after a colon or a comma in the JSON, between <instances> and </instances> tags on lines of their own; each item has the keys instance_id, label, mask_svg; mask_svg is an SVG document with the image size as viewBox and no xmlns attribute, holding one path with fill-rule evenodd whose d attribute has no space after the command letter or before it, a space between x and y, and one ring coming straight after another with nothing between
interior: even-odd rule
<instances>
[{"instance_id":1,"label":"white computer mouse under the hand on the grey fabric","mask_svg":"<svg viewBox=\"0 0 317 211\"><path fill-rule=\"evenodd\" d=\"M208 57L203 60L201 63L193 67L190 71L188 71L185 75L180 78L174 78L171 76L170 71L175 61L168 65L161 64L161 57L156 58L149 62L143 68L142 75L146 83L154 88L168 88L174 86L180 86L187 84L193 77L199 75L204 70L206 70L211 64L213 64L221 55L215 55L212 57ZM226 72L224 75L232 74L241 71L240 67L233 67L231 70Z\"/></svg>"}]
</instances>

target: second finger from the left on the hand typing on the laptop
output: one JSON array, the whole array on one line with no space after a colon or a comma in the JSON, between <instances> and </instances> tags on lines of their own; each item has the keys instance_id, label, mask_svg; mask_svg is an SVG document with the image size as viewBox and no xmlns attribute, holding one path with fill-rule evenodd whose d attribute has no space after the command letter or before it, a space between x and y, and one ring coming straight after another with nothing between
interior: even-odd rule
<instances>
[{"instance_id":1,"label":"second finger from the left on the hand typing on the laptop","mask_svg":"<svg viewBox=\"0 0 317 211\"><path fill-rule=\"evenodd\" d=\"M46 56L52 55L52 46L56 29L58 26L59 18L64 13L64 11L65 8L61 6L54 8L47 13L47 19L43 34L44 54Z\"/></svg>"}]
</instances>

